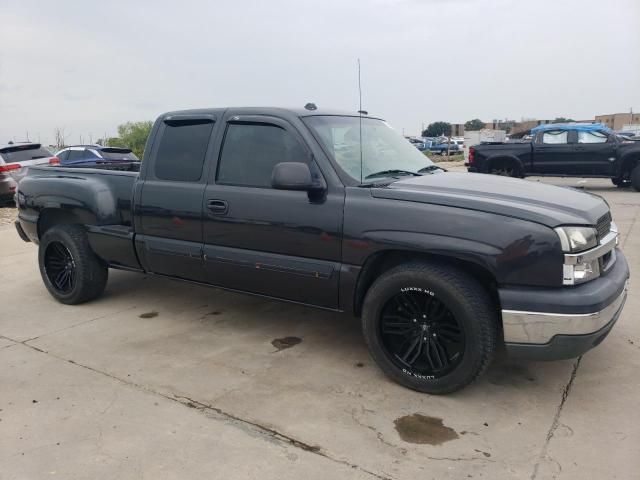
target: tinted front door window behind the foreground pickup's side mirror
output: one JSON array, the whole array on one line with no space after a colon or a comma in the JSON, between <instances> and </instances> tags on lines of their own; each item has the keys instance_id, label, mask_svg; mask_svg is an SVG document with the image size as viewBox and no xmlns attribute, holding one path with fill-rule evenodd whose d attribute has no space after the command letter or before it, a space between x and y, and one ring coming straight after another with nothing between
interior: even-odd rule
<instances>
[{"instance_id":1,"label":"tinted front door window behind the foreground pickup's side mirror","mask_svg":"<svg viewBox=\"0 0 640 480\"><path fill-rule=\"evenodd\" d=\"M271 187L276 164L307 161L308 156L298 140L280 127L230 124L216 179L222 184Z\"/></svg>"}]
</instances>

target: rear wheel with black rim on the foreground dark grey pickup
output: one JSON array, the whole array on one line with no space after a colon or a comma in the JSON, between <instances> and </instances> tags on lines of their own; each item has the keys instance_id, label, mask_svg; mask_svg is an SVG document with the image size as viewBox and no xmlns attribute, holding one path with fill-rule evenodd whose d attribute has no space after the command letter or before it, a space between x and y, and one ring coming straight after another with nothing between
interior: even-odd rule
<instances>
[{"instance_id":1,"label":"rear wheel with black rim on the foreground dark grey pickup","mask_svg":"<svg viewBox=\"0 0 640 480\"><path fill-rule=\"evenodd\" d=\"M79 225L57 225L42 236L38 250L40 275L59 302L77 305L99 297L109 270L93 253Z\"/></svg>"}]
</instances>

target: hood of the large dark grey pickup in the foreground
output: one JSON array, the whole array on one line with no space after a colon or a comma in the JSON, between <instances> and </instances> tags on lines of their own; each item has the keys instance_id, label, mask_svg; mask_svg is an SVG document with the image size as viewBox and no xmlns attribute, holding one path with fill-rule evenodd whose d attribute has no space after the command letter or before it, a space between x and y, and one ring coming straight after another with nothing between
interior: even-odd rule
<instances>
[{"instance_id":1,"label":"hood of the large dark grey pickup in the foreground","mask_svg":"<svg viewBox=\"0 0 640 480\"><path fill-rule=\"evenodd\" d=\"M541 223L595 225L609 211L596 195L573 188L480 173L435 173L407 177L384 188L376 198L421 202L479 210Z\"/></svg>"}]
</instances>

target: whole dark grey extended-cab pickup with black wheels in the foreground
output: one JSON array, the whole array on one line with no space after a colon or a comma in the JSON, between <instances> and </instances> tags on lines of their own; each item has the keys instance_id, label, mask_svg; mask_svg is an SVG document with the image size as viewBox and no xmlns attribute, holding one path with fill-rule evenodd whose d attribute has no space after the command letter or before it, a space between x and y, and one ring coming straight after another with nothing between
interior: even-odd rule
<instances>
[{"instance_id":1,"label":"whole dark grey extended-cab pickup with black wheels in the foreground","mask_svg":"<svg viewBox=\"0 0 640 480\"><path fill-rule=\"evenodd\" d=\"M172 112L141 164L101 168L35 167L18 187L16 228L63 303L118 268L341 311L391 378L446 393L498 348L581 355L626 299L600 197L445 172L371 116Z\"/></svg>"}]
</instances>

